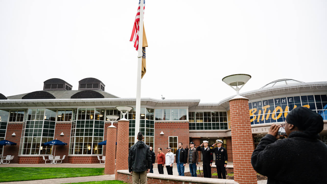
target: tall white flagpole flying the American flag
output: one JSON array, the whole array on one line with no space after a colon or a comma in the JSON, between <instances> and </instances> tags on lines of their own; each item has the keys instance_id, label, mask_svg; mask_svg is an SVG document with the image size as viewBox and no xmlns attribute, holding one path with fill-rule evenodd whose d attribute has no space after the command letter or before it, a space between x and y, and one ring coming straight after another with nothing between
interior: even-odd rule
<instances>
[{"instance_id":1,"label":"tall white flagpole flying the American flag","mask_svg":"<svg viewBox=\"0 0 327 184\"><path fill-rule=\"evenodd\" d=\"M137 134L140 131L140 111L141 111L141 75L142 75L142 46L143 46L143 3L141 0L140 4L140 31L139 31L139 48L137 55L137 83L136 83L136 114L135 114L135 139L137 142Z\"/></svg>"}]
</instances>

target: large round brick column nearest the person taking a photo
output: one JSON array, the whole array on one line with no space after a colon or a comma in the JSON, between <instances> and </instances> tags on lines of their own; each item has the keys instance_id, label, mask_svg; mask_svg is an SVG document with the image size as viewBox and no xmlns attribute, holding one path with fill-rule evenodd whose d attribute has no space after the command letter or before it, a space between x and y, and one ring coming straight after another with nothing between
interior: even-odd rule
<instances>
[{"instance_id":1,"label":"large round brick column nearest the person taking a photo","mask_svg":"<svg viewBox=\"0 0 327 184\"><path fill-rule=\"evenodd\" d=\"M234 180L240 184L257 184L257 176L251 165L253 139L246 98L229 101L231 113L232 151Z\"/></svg>"}]
</instances>

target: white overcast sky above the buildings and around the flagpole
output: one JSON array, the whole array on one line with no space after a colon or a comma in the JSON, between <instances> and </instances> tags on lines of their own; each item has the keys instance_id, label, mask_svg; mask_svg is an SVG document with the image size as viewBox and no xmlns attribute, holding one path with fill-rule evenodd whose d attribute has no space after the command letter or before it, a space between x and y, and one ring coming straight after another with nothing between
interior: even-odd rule
<instances>
[{"instance_id":1,"label":"white overcast sky above the buildings and around the flagpole","mask_svg":"<svg viewBox=\"0 0 327 184\"><path fill-rule=\"evenodd\" d=\"M88 77L136 98L137 51L129 42L138 0L0 0L0 93ZM277 79L327 81L327 1L147 0L141 98L219 102L235 94L222 78L252 78L242 92Z\"/></svg>"}]
</instances>

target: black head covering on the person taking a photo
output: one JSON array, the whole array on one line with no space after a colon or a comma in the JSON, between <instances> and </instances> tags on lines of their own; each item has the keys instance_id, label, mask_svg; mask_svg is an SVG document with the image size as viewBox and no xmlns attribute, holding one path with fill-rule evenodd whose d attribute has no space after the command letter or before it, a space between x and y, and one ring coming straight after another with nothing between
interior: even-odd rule
<instances>
[{"instance_id":1,"label":"black head covering on the person taking a photo","mask_svg":"<svg viewBox=\"0 0 327 184\"><path fill-rule=\"evenodd\" d=\"M322 117L307 107L291 110L286 116L286 121L311 136L320 133L324 128Z\"/></svg>"}]
</instances>

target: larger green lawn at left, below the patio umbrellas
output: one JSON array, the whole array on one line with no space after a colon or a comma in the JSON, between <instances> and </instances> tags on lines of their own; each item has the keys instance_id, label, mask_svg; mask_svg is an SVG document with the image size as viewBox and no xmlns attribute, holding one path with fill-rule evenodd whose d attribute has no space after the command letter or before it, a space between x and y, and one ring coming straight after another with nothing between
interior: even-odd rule
<instances>
[{"instance_id":1,"label":"larger green lawn at left, below the patio umbrellas","mask_svg":"<svg viewBox=\"0 0 327 184\"><path fill-rule=\"evenodd\" d=\"M1 167L0 182L104 175L104 168Z\"/></svg>"}]
</instances>

